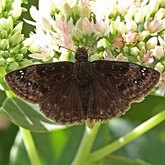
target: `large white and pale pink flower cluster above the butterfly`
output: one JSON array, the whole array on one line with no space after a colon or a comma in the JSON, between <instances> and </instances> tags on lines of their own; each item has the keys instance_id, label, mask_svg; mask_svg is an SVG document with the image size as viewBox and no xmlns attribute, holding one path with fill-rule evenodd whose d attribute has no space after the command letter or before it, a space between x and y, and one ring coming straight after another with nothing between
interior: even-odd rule
<instances>
[{"instance_id":1,"label":"large white and pale pink flower cluster above the butterfly","mask_svg":"<svg viewBox=\"0 0 165 165\"><path fill-rule=\"evenodd\" d=\"M165 94L164 0L44 0L30 9L35 33L24 41L38 62L74 61L78 47L91 46L89 60L124 60L161 73L159 94ZM65 48L59 48L59 46ZM91 55L90 55L91 54Z\"/></svg>"}]
</instances>

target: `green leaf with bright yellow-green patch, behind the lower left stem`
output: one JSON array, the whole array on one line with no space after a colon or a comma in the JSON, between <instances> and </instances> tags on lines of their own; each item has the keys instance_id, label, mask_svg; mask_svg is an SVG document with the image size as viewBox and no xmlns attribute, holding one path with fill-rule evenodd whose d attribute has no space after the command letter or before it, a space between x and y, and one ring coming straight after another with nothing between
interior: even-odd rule
<instances>
[{"instance_id":1,"label":"green leaf with bright yellow-green patch, behind the lower left stem","mask_svg":"<svg viewBox=\"0 0 165 165\"><path fill-rule=\"evenodd\" d=\"M83 136L83 131L84 125L78 125L47 133L32 133L43 165L70 165ZM11 149L10 165L30 165L20 133Z\"/></svg>"}]
</instances>

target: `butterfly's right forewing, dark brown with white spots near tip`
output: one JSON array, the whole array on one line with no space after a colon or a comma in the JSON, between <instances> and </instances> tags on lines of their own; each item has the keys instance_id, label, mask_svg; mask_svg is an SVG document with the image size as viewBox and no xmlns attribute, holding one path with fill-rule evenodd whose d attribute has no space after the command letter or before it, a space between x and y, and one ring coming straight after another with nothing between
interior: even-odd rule
<instances>
[{"instance_id":1,"label":"butterfly's right forewing, dark brown with white spots near tip","mask_svg":"<svg viewBox=\"0 0 165 165\"><path fill-rule=\"evenodd\" d=\"M137 100L158 83L160 73L131 62L95 61L95 73L127 100Z\"/></svg>"}]
</instances>

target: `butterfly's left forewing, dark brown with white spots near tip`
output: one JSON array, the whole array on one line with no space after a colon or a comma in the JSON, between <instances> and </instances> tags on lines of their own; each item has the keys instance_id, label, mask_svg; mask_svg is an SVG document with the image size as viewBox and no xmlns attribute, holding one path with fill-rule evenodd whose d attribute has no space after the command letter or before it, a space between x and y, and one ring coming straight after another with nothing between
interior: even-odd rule
<instances>
[{"instance_id":1,"label":"butterfly's left forewing, dark brown with white spots near tip","mask_svg":"<svg viewBox=\"0 0 165 165\"><path fill-rule=\"evenodd\" d=\"M5 79L16 95L26 101L39 103L46 93L68 79L72 72L71 62L37 64L10 72Z\"/></svg>"}]
</instances>

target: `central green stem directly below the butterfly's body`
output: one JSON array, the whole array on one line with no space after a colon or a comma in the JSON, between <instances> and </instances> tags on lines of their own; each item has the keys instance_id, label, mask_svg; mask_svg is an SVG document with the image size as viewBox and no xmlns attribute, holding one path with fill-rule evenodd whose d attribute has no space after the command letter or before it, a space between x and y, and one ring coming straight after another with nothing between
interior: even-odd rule
<instances>
[{"instance_id":1,"label":"central green stem directly below the butterfly's body","mask_svg":"<svg viewBox=\"0 0 165 165\"><path fill-rule=\"evenodd\" d=\"M85 164L87 157L89 156L92 144L99 130L99 127L100 123L95 123L92 129L86 127L78 152L71 165Z\"/></svg>"}]
</instances>

